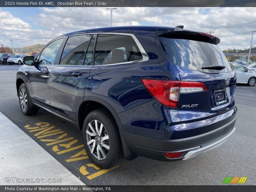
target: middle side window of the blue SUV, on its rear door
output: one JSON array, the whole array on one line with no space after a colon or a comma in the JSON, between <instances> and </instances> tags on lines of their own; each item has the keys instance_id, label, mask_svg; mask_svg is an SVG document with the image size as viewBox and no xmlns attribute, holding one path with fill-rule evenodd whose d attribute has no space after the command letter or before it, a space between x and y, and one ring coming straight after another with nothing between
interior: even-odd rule
<instances>
[{"instance_id":1,"label":"middle side window of the blue SUV, on its rear door","mask_svg":"<svg viewBox=\"0 0 256 192\"><path fill-rule=\"evenodd\" d=\"M92 35L79 35L68 37L62 52L60 65L84 65L84 54Z\"/></svg>"}]
</instances>

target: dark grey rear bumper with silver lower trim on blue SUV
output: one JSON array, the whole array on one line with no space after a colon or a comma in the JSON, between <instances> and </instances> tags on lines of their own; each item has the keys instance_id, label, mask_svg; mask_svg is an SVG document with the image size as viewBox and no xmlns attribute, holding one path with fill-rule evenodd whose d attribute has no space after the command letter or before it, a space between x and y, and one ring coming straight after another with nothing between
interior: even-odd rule
<instances>
[{"instance_id":1,"label":"dark grey rear bumper with silver lower trim on blue SUV","mask_svg":"<svg viewBox=\"0 0 256 192\"><path fill-rule=\"evenodd\" d=\"M203 120L204 121L204 120ZM225 122L225 124L223 124ZM203 152L218 147L235 131L236 112L211 126L216 129L183 139L156 139L135 135L120 130L122 143L136 156L144 156L160 161L177 161L193 158ZM197 122L198 124L201 121ZM208 126L203 127L208 129ZM191 132L193 132L191 130ZM179 158L167 158L164 153L184 152ZM125 151L124 151L125 154ZM127 154L127 153L126 153ZM125 156L129 160L129 157Z\"/></svg>"}]
</instances>

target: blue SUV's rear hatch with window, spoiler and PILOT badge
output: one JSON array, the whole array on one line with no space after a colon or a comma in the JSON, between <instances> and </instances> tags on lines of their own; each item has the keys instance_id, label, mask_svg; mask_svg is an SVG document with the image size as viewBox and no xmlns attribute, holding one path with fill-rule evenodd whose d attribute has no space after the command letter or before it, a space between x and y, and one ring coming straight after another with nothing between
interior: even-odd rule
<instances>
[{"instance_id":1,"label":"blue SUV's rear hatch with window, spoiler and PILOT badge","mask_svg":"<svg viewBox=\"0 0 256 192\"><path fill-rule=\"evenodd\" d=\"M235 72L218 47L217 37L174 29L158 38L167 59L179 71L181 82L185 82L177 105L181 121L217 116L235 107ZM189 82L201 84L195 87Z\"/></svg>"}]
</instances>

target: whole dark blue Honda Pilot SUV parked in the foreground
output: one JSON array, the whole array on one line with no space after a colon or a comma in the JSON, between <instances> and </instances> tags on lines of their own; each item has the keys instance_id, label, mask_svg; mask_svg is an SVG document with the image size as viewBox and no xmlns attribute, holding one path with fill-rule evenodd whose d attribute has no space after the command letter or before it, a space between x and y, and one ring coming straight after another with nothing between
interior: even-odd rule
<instances>
[{"instance_id":1,"label":"whole dark blue Honda Pilot SUV parked in the foreground","mask_svg":"<svg viewBox=\"0 0 256 192\"><path fill-rule=\"evenodd\" d=\"M21 111L43 108L82 130L94 164L185 160L235 130L236 75L212 35L179 27L68 33L17 73Z\"/></svg>"}]
</instances>

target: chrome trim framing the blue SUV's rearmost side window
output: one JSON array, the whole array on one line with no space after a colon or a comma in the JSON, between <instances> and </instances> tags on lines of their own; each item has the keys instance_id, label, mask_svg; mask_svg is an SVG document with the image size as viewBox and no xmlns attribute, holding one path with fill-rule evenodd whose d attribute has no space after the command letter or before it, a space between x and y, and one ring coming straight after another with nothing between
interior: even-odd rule
<instances>
[{"instance_id":1,"label":"chrome trim framing the blue SUV's rearmost side window","mask_svg":"<svg viewBox=\"0 0 256 192\"><path fill-rule=\"evenodd\" d=\"M122 64L129 64L129 63L139 63L139 62L144 62L144 61L149 60L148 54L146 53L146 51L144 50L144 48L140 44L140 41L132 33L99 32L98 35L124 35L124 36L131 36L133 38L134 42L136 43L136 45L139 48L139 51L140 51L140 53L142 55L142 59L135 60L135 61L127 61L127 62L122 62L122 63L107 64L107 65L94 65L94 59L93 59L93 67L104 67L104 66L111 66L111 65L122 65ZM97 36L97 39L98 39L98 36ZM94 47L94 52L95 52L96 45L97 45L97 39L96 39L95 44L94 44L94 46L95 46ZM94 58L94 55L93 55L93 58Z\"/></svg>"}]
</instances>

